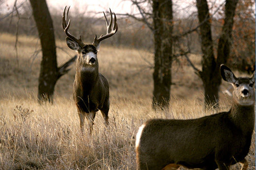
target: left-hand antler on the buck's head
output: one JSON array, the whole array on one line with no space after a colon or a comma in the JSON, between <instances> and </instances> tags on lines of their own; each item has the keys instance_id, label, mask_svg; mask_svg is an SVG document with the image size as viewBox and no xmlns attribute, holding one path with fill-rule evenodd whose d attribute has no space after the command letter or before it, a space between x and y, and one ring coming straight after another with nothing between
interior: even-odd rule
<instances>
[{"instance_id":1,"label":"left-hand antler on the buck's head","mask_svg":"<svg viewBox=\"0 0 256 170\"><path fill-rule=\"evenodd\" d=\"M68 22L68 25L67 25L67 18L68 18L68 15L69 15L69 8L70 7L68 8L67 13L66 13L66 8L67 8L67 6L65 7L65 9L63 11L63 15L62 15L62 28L63 28L63 30L65 31L66 35L69 38L76 41L82 47L82 46L84 46L84 43L82 42L81 36L79 36L79 39L77 39L76 37L74 37L72 34L69 33L70 19L69 19L69 22Z\"/></svg>"}]
</instances>

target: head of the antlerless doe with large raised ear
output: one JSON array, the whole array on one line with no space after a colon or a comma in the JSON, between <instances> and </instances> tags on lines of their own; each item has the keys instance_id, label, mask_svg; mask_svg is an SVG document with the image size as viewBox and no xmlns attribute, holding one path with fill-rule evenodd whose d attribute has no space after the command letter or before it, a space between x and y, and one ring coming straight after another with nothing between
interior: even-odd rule
<instances>
[{"instance_id":1,"label":"head of the antlerless doe with large raised ear","mask_svg":"<svg viewBox=\"0 0 256 170\"><path fill-rule=\"evenodd\" d=\"M250 106L255 104L255 71L251 77L234 76L233 72L226 65L221 67L222 79L234 87L233 100L239 105Z\"/></svg>"}]
</instances>

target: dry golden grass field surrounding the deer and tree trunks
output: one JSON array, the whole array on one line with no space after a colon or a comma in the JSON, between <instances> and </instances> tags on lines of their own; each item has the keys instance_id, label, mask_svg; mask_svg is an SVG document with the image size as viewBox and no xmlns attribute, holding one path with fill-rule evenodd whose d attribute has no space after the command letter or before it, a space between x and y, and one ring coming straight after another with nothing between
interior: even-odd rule
<instances>
[{"instance_id":1,"label":"dry golden grass field surrounding the deer and tree trunks","mask_svg":"<svg viewBox=\"0 0 256 170\"><path fill-rule=\"evenodd\" d=\"M210 108L204 111L202 82L184 59L173 64L176 85L172 86L169 109L153 111L153 54L103 43L98 53L99 71L110 84L110 126L104 126L98 113L92 136L82 136L72 98L75 65L57 82L53 105L38 105L41 54L35 55L35 51L40 49L39 41L20 36L17 59L14 43L14 36L0 34L2 169L135 169L135 135L147 119L185 119L215 113ZM59 64L75 54L65 42L57 41L57 46ZM190 58L200 68L200 56ZM223 83L221 90L227 87ZM220 102L221 111L229 110L230 99L221 92ZM255 131L247 160L248 169L255 169ZM237 164L232 169L239 167Z\"/></svg>"}]
</instances>

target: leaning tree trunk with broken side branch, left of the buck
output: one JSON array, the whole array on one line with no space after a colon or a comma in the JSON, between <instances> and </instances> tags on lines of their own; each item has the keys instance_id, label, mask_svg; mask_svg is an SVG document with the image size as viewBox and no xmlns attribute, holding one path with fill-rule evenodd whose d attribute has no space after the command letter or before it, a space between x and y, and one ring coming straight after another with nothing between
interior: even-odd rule
<instances>
[{"instance_id":1,"label":"leaning tree trunk with broken side branch, left of the buck","mask_svg":"<svg viewBox=\"0 0 256 170\"><path fill-rule=\"evenodd\" d=\"M41 42L42 60L38 79L38 102L53 102L54 87L57 80L68 72L67 67L74 62L76 56L66 64L57 67L56 46L52 18L45 0L30 0Z\"/></svg>"}]
</instances>

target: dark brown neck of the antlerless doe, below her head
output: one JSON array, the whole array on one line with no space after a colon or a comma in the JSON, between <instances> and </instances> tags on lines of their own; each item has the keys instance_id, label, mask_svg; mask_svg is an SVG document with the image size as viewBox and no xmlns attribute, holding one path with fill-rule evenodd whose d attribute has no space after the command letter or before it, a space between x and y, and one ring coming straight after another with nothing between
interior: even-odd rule
<instances>
[{"instance_id":1,"label":"dark brown neck of the antlerless doe, below her head","mask_svg":"<svg viewBox=\"0 0 256 170\"><path fill-rule=\"evenodd\" d=\"M233 103L229 112L233 124L241 129L243 134L251 135L255 124L255 106Z\"/></svg>"}]
</instances>

